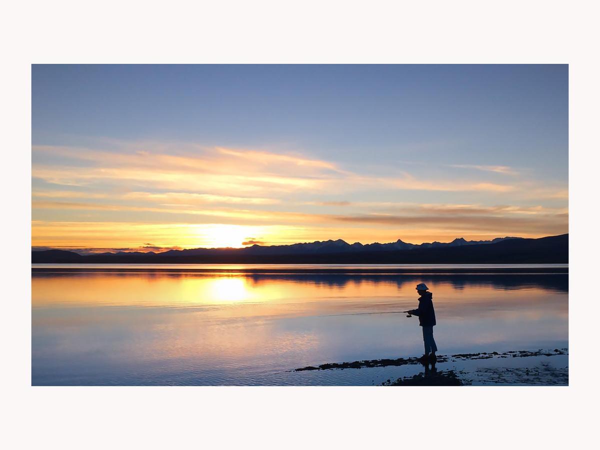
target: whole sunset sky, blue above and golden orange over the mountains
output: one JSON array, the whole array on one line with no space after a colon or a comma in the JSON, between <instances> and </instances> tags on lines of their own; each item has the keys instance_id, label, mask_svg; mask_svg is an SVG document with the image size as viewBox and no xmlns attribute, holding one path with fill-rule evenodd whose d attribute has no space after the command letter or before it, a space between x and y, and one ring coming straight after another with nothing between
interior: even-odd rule
<instances>
[{"instance_id":1,"label":"whole sunset sky, blue above and golden orange over the mountains","mask_svg":"<svg viewBox=\"0 0 600 450\"><path fill-rule=\"evenodd\" d=\"M32 67L34 248L566 232L566 65Z\"/></svg>"}]
</instances>

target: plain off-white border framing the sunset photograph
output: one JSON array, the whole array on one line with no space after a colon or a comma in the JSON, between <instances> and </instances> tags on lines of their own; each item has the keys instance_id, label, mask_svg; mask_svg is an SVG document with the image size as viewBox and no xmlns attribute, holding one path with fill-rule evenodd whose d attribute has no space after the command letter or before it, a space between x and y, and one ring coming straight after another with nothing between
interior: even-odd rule
<instances>
[{"instance_id":1,"label":"plain off-white border framing the sunset photograph","mask_svg":"<svg viewBox=\"0 0 600 450\"><path fill-rule=\"evenodd\" d=\"M591 439L600 100L592 2L58 0L5 8L7 448L578 448ZM46 62L569 63L569 387L32 388L31 63Z\"/></svg>"}]
</instances>

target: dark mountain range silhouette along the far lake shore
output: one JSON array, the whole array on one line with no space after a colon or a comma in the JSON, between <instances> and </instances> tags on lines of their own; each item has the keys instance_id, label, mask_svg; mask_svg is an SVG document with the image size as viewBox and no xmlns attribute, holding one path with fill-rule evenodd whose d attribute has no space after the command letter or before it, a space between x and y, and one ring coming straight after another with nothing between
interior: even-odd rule
<instances>
[{"instance_id":1,"label":"dark mountain range silhouette along the far lake shore","mask_svg":"<svg viewBox=\"0 0 600 450\"><path fill-rule=\"evenodd\" d=\"M139 251L80 255L66 250L32 251L32 263L567 263L569 235L539 239L425 242L363 245L316 241L245 248L194 248L162 253Z\"/></svg>"}]
</instances>

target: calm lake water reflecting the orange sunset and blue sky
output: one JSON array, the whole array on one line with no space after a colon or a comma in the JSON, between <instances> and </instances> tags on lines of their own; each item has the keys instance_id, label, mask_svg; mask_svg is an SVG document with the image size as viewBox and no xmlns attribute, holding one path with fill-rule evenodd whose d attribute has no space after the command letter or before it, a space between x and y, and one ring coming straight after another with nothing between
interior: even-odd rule
<instances>
[{"instance_id":1,"label":"calm lake water reflecting the orange sunset and blue sky","mask_svg":"<svg viewBox=\"0 0 600 450\"><path fill-rule=\"evenodd\" d=\"M421 274L360 267L365 273L329 265L35 265L32 384L377 384L419 368L290 370L421 355L416 317L351 315L415 308L420 282L433 292L439 353L568 347L568 275L560 265L520 268L557 268L551 274L510 273L505 265L462 266L470 270L461 274L443 265L418 266ZM482 267L503 272L477 273ZM427 273L432 268L448 271ZM532 364L527 359L502 364Z\"/></svg>"}]
</instances>

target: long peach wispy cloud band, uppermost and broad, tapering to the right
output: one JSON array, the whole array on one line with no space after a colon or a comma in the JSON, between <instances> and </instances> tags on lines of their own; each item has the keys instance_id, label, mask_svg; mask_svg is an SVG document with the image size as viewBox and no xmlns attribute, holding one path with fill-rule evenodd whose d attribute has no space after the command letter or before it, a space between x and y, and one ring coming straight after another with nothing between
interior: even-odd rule
<instances>
[{"instance_id":1,"label":"long peach wispy cloud band, uppermost and broad, tapering to the right","mask_svg":"<svg viewBox=\"0 0 600 450\"><path fill-rule=\"evenodd\" d=\"M488 181L457 181L415 177L362 175L342 169L331 161L268 151L200 148L182 145L182 154L163 154L149 144L125 146L122 153L64 146L34 146L34 152L59 155L92 166L35 163L32 175L66 186L94 187L101 183L152 186L163 190L227 196L235 192L281 194L292 191L352 192L396 189L422 191L488 191L506 193L512 184ZM185 154L183 154L185 153ZM486 166L487 167L487 166ZM491 167L491 166L490 166ZM499 166L500 167L500 166ZM139 189L138 189L139 190Z\"/></svg>"}]
</instances>

